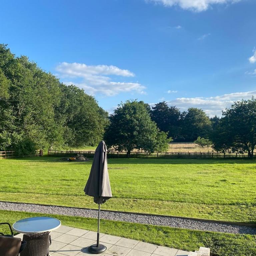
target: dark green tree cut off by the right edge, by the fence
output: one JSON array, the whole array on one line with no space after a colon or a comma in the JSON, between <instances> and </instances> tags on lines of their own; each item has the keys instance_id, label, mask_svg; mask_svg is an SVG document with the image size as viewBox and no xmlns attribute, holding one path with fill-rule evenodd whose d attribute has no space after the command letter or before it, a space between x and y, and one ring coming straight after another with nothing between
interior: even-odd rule
<instances>
[{"instance_id":1,"label":"dark green tree cut off by the right edge, by the fence","mask_svg":"<svg viewBox=\"0 0 256 256\"><path fill-rule=\"evenodd\" d=\"M212 136L217 151L248 152L252 158L256 145L256 100L234 102L222 113Z\"/></svg>"}]
</instances>

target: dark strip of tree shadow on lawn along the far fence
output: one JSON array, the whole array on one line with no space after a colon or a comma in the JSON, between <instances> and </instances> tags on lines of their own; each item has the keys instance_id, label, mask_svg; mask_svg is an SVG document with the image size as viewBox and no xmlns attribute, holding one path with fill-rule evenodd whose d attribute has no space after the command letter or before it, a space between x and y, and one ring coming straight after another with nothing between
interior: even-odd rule
<instances>
[{"instance_id":1,"label":"dark strip of tree shadow on lawn along the far fence","mask_svg":"<svg viewBox=\"0 0 256 256\"><path fill-rule=\"evenodd\" d=\"M43 156L43 157L16 157L5 160L25 160L35 162L57 162L67 164L92 164L93 158L89 161L71 162L62 160L63 156ZM68 157L66 157L68 158ZM108 158L109 164L256 164L256 159L173 159L173 158Z\"/></svg>"}]
</instances>

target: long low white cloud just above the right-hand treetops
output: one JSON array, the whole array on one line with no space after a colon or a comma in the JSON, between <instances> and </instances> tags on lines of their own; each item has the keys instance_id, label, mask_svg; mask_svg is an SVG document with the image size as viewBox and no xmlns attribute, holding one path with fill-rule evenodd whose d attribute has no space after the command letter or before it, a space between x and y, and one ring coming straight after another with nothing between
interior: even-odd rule
<instances>
[{"instance_id":1,"label":"long low white cloud just above the right-hand treetops","mask_svg":"<svg viewBox=\"0 0 256 256\"><path fill-rule=\"evenodd\" d=\"M209 116L221 116L222 110L230 107L234 101L241 99L250 99L256 95L256 91L250 92L236 92L224 94L215 97L194 97L194 98L176 98L174 100L166 101L170 106L176 106L181 111L187 110L189 107L196 107L203 109ZM152 103L150 105L154 105Z\"/></svg>"}]
</instances>

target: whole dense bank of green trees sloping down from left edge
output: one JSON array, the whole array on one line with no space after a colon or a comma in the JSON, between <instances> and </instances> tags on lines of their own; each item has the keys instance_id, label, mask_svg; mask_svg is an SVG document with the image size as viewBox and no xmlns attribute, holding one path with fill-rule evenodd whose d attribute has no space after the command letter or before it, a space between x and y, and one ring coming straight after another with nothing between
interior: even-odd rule
<instances>
[{"instance_id":1,"label":"whole dense bank of green trees sloping down from left edge","mask_svg":"<svg viewBox=\"0 0 256 256\"><path fill-rule=\"evenodd\" d=\"M0 45L0 150L96 144L107 113L75 86L65 86L26 56Z\"/></svg>"}]
</instances>

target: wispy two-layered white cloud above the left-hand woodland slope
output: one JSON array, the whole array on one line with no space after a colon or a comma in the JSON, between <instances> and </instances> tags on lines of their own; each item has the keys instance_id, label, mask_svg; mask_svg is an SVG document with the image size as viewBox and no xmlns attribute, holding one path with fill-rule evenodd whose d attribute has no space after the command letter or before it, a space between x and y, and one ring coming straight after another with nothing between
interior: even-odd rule
<instances>
[{"instance_id":1,"label":"wispy two-layered white cloud above the left-hand woodland slope","mask_svg":"<svg viewBox=\"0 0 256 256\"><path fill-rule=\"evenodd\" d=\"M57 67L58 76L73 81L64 81L65 84L74 84L84 88L89 94L103 94L113 96L121 92L136 92L144 94L145 86L136 82L114 82L110 76L134 77L135 74L127 69L115 66L89 66L82 63L62 62ZM81 79L80 82L74 80Z\"/></svg>"}]
</instances>

